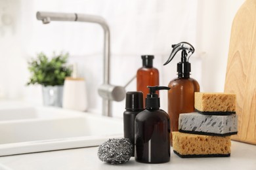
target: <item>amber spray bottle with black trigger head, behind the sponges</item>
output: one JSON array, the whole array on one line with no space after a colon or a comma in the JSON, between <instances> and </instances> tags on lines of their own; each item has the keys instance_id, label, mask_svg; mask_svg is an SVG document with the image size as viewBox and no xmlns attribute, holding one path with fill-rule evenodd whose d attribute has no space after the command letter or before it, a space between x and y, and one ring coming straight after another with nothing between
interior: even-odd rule
<instances>
[{"instance_id":1,"label":"amber spray bottle with black trigger head, behind the sponges","mask_svg":"<svg viewBox=\"0 0 256 170\"><path fill-rule=\"evenodd\" d=\"M190 78L191 64L188 62L194 53L194 47L188 42L172 45L173 50L169 59L163 65L167 65L174 56L181 52L181 62L177 63L178 77L169 82L168 114L171 119L171 132L179 131L179 114L194 112L194 92L200 92L200 86L194 78ZM173 146L172 135L171 146Z\"/></svg>"}]
</instances>

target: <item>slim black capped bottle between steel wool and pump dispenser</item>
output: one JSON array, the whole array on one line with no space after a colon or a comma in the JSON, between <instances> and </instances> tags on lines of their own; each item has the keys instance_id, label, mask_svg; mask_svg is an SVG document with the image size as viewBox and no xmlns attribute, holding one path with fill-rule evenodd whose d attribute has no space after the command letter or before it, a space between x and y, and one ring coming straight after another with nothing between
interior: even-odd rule
<instances>
[{"instance_id":1,"label":"slim black capped bottle between steel wool and pump dispenser","mask_svg":"<svg viewBox=\"0 0 256 170\"><path fill-rule=\"evenodd\" d=\"M123 134L125 138L130 139L133 144L134 156L135 150L135 117L143 109L143 93L127 92L125 100L125 112L123 112Z\"/></svg>"}]
</instances>

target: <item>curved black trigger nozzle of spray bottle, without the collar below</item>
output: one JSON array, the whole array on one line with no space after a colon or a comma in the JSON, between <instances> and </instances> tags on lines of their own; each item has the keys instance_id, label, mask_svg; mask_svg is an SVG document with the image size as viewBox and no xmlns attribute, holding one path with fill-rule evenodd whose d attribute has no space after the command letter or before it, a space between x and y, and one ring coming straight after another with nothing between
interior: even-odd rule
<instances>
[{"instance_id":1,"label":"curved black trigger nozzle of spray bottle, without the collar below","mask_svg":"<svg viewBox=\"0 0 256 170\"><path fill-rule=\"evenodd\" d=\"M195 52L194 46L192 46L188 42L180 42L179 44L173 44L171 45L171 47L173 48L173 50L171 51L171 55L163 65L167 65L167 63L169 63L174 58L174 56L177 54L177 52L179 52L179 50L182 50L181 60L183 60L183 62L188 62L190 56Z\"/></svg>"}]
</instances>

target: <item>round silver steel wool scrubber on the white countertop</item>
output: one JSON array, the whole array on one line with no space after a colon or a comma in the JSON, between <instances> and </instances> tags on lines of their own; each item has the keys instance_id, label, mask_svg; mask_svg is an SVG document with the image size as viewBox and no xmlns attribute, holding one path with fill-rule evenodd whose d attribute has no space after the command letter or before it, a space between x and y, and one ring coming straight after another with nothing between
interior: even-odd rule
<instances>
[{"instance_id":1,"label":"round silver steel wool scrubber on the white countertop","mask_svg":"<svg viewBox=\"0 0 256 170\"><path fill-rule=\"evenodd\" d=\"M130 140L108 139L98 146L98 158L112 164L125 163L130 160L133 145Z\"/></svg>"}]
</instances>

